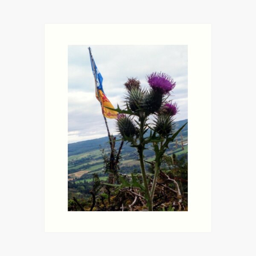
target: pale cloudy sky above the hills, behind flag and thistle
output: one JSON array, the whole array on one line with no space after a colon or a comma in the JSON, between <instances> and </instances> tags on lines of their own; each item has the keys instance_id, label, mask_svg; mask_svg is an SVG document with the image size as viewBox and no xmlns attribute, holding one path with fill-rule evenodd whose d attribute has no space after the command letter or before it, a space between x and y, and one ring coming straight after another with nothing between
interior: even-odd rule
<instances>
[{"instance_id":1,"label":"pale cloudy sky above the hills, behind flag and thistle","mask_svg":"<svg viewBox=\"0 0 256 256\"><path fill-rule=\"evenodd\" d=\"M68 47L68 143L107 136L100 103L95 97L89 45ZM176 81L171 99L177 102L176 120L187 119L186 45L90 45L94 61L103 77L103 89L114 107L122 106L124 83L137 77L148 87L145 76L167 73ZM107 119L110 132L117 134L115 119Z\"/></svg>"}]
</instances>

